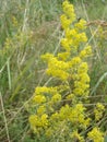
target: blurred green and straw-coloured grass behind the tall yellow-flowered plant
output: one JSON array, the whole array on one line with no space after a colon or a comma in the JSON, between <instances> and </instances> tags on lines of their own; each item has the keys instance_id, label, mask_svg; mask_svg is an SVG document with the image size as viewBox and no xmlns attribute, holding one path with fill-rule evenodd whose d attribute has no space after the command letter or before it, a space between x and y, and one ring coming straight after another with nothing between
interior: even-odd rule
<instances>
[{"instance_id":1,"label":"blurred green and straw-coloured grass behind the tall yellow-flowered plant","mask_svg":"<svg viewBox=\"0 0 107 142\"><path fill-rule=\"evenodd\" d=\"M71 0L79 17L106 21L107 1ZM62 0L3 0L0 2L0 141L36 142L31 137L27 103L38 85L49 83L45 52L60 50ZM107 36L96 37L99 25L90 25L94 57L91 66L91 94L107 104ZM107 26L104 27L107 31ZM94 34L94 36L93 36ZM97 100L94 99L95 102ZM93 100L93 102L94 102ZM95 103L94 102L94 103ZM107 125L106 114L105 126ZM107 130L107 128L105 128Z\"/></svg>"}]
</instances>

